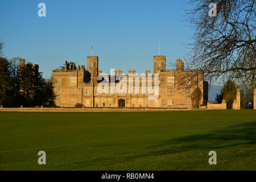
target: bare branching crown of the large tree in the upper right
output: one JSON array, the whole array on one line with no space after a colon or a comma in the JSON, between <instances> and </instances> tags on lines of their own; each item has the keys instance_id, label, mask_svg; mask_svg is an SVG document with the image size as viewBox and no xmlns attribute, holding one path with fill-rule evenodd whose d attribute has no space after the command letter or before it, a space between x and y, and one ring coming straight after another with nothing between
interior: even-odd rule
<instances>
[{"instance_id":1,"label":"bare branching crown of the large tree in the upper right","mask_svg":"<svg viewBox=\"0 0 256 182\"><path fill-rule=\"evenodd\" d=\"M209 16L216 3L217 16ZM255 81L255 0L189 0L187 20L195 29L186 58L210 83L218 77Z\"/></svg>"}]
</instances>

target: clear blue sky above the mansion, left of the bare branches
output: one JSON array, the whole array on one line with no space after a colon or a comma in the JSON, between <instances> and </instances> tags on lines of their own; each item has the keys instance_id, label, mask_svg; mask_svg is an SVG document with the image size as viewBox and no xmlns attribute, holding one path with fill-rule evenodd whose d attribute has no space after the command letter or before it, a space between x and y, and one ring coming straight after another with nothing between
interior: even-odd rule
<instances>
[{"instance_id":1,"label":"clear blue sky above the mansion, left of the bare branches","mask_svg":"<svg viewBox=\"0 0 256 182\"><path fill-rule=\"evenodd\" d=\"M46 3L46 17L38 4ZM44 78L65 60L86 65L99 56L99 68L152 70L152 57L183 59L192 30L184 20L182 1L30 1L1 0L0 38L5 56L39 64Z\"/></svg>"}]
</instances>

